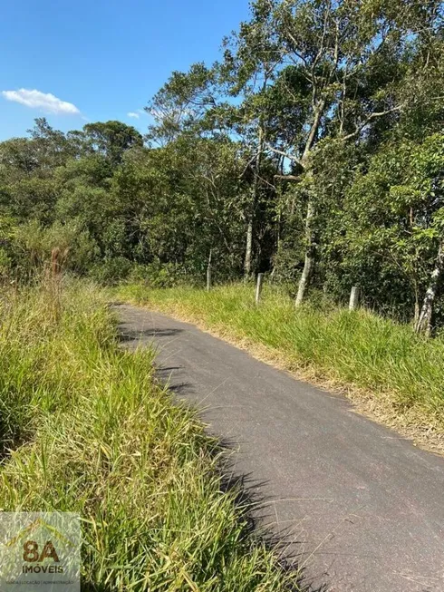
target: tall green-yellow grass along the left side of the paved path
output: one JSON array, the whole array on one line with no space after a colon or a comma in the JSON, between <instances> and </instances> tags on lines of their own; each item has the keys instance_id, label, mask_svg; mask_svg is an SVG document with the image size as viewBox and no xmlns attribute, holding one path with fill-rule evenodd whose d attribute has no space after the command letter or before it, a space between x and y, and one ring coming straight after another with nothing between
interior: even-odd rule
<instances>
[{"instance_id":1,"label":"tall green-yellow grass along the left side of the paved path","mask_svg":"<svg viewBox=\"0 0 444 592\"><path fill-rule=\"evenodd\" d=\"M78 512L82 590L299 589L98 288L0 289L0 323L0 508Z\"/></svg>"}]
</instances>

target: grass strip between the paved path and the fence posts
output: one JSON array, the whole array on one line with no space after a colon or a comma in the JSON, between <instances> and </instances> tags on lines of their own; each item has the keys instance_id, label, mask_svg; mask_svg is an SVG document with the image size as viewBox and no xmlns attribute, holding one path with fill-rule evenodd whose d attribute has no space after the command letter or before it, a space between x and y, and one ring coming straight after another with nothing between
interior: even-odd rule
<instances>
[{"instance_id":1,"label":"grass strip between the paved path and the fence posts","mask_svg":"<svg viewBox=\"0 0 444 592\"><path fill-rule=\"evenodd\" d=\"M121 286L121 297L190 320L253 354L328 388L433 451L444 451L444 340L370 311L350 313L293 302L267 286L149 289Z\"/></svg>"}]
</instances>

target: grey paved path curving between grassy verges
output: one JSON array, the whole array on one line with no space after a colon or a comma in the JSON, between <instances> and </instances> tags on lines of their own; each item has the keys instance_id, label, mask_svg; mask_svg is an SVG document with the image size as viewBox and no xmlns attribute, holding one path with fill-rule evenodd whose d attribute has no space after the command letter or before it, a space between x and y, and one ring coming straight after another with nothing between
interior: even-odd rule
<instances>
[{"instance_id":1,"label":"grey paved path curving between grassy verges","mask_svg":"<svg viewBox=\"0 0 444 592\"><path fill-rule=\"evenodd\" d=\"M444 459L193 325L118 310L127 345L153 342L162 379L235 446L314 588L444 591Z\"/></svg>"}]
</instances>

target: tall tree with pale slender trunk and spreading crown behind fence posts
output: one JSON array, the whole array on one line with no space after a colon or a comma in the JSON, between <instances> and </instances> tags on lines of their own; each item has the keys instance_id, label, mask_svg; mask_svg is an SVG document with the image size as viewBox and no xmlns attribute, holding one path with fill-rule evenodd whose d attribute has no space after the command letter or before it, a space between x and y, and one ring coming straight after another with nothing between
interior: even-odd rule
<instances>
[{"instance_id":1,"label":"tall tree with pale slender trunk and spreading crown behind fence posts","mask_svg":"<svg viewBox=\"0 0 444 592\"><path fill-rule=\"evenodd\" d=\"M307 179L306 252L296 304L303 301L314 273L317 210L311 189L314 174L311 160L315 148L328 139L364 141L373 124L382 118L396 118L408 109L412 100L411 95L400 92L402 82L410 72L411 63L418 66L423 49L419 49L420 32L436 24L440 3L430 2L423 7L423 3L411 1L407 10L402 11L404 3L398 7L395 4L368 0L257 0L254 3L250 26L265 31L268 37L262 43L274 47L274 52L279 51L276 78L281 92L285 92L285 102L294 107L296 114L301 112L300 92L294 92L294 77L285 76L287 68L304 78L303 102L307 94L310 97L300 127L292 127L294 133L290 136L286 132L288 115L294 121L288 107L278 126L285 130L285 135L278 132L277 145L268 144L269 150L294 163ZM266 29L261 27L264 19L271 23ZM417 59L412 61L410 53L415 44Z\"/></svg>"}]
</instances>

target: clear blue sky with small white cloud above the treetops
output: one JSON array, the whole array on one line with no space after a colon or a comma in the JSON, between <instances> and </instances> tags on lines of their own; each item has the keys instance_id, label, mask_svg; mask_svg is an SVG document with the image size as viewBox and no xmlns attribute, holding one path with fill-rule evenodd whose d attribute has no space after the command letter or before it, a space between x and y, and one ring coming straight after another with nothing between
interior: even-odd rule
<instances>
[{"instance_id":1,"label":"clear blue sky with small white cloud above the treetops","mask_svg":"<svg viewBox=\"0 0 444 592\"><path fill-rule=\"evenodd\" d=\"M146 131L137 110L169 73L212 63L247 15L247 0L3 2L0 140L41 116L63 131L110 119Z\"/></svg>"}]
</instances>

